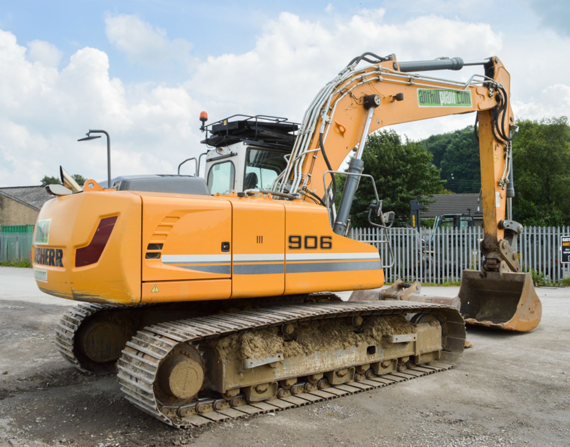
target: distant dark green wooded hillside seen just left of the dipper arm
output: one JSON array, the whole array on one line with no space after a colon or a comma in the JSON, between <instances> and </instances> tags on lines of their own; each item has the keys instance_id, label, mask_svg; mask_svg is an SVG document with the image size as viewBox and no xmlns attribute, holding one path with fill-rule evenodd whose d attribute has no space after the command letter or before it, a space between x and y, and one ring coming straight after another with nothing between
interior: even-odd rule
<instances>
[{"instance_id":1,"label":"distant dark green wooded hillside seen just left of the dipper arm","mask_svg":"<svg viewBox=\"0 0 570 447\"><path fill-rule=\"evenodd\" d=\"M481 164L473 126L431 135L422 144L433 154L433 164L441 168L446 189L454 193L479 192Z\"/></svg>"}]
</instances>

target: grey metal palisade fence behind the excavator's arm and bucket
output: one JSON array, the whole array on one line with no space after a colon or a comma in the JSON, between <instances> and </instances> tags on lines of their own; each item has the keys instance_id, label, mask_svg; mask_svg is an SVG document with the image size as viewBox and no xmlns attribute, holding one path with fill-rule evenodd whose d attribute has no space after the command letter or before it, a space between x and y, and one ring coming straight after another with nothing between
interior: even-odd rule
<instances>
[{"instance_id":1,"label":"grey metal palisade fence behind the excavator's arm and bucket","mask_svg":"<svg viewBox=\"0 0 570 447\"><path fill-rule=\"evenodd\" d=\"M562 263L560 238L570 235L570 227L524 227L519 235L519 259L522 271L535 271L547 283L560 283L570 277L570 263ZM483 229L353 228L349 237L372 243L380 251L385 266L386 282L404 281L445 283L461 280L464 269L480 270L479 244ZM393 258L388 244L392 246Z\"/></svg>"}]
</instances>

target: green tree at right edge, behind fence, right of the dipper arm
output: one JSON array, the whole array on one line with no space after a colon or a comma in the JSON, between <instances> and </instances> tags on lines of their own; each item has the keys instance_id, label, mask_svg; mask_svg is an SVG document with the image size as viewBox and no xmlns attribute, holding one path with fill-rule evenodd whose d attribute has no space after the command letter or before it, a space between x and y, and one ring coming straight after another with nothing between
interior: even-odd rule
<instances>
[{"instance_id":1,"label":"green tree at right edge, behind fence, right of the dipper arm","mask_svg":"<svg viewBox=\"0 0 570 447\"><path fill-rule=\"evenodd\" d=\"M570 126L565 116L520 120L513 140L515 220L570 225Z\"/></svg>"}]
</instances>

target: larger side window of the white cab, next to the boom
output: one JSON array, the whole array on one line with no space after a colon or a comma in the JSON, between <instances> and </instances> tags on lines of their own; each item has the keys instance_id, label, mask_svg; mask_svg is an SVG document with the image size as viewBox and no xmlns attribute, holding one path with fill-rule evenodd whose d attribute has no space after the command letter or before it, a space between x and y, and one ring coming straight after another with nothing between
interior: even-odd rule
<instances>
[{"instance_id":1,"label":"larger side window of the white cab, next to the boom","mask_svg":"<svg viewBox=\"0 0 570 447\"><path fill-rule=\"evenodd\" d=\"M247 149L243 190L271 189L275 178L287 166L287 160L284 158L287 153L275 149Z\"/></svg>"}]
</instances>

